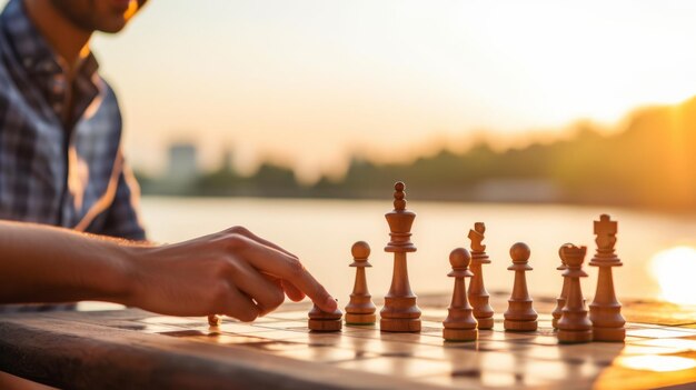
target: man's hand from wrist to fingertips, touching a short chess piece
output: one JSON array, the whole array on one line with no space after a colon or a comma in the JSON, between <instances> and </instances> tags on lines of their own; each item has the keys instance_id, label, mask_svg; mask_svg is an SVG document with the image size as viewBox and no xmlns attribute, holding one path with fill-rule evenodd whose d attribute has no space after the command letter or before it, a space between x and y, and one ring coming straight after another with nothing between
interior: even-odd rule
<instances>
[{"instance_id":1,"label":"man's hand from wrist to fingertips, touching a short chess piece","mask_svg":"<svg viewBox=\"0 0 696 390\"><path fill-rule=\"evenodd\" d=\"M252 321L276 309L285 296L309 297L325 311L336 301L282 248L235 227L191 241L133 247L127 304L173 316L221 313Z\"/></svg>"}]
</instances>

